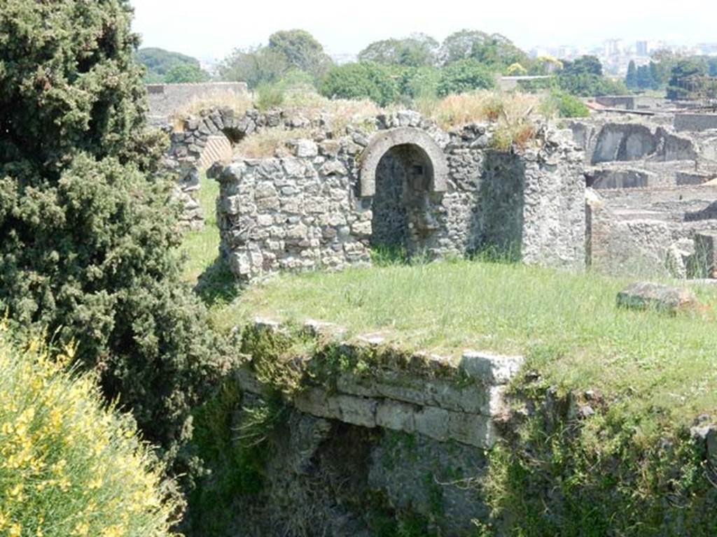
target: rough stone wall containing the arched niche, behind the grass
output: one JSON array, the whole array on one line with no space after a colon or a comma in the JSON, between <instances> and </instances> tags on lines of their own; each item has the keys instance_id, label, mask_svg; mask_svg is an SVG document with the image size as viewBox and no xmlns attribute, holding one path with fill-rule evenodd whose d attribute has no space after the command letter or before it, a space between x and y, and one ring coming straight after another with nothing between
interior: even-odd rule
<instances>
[{"instance_id":1,"label":"rough stone wall containing the arched niche, behind the grass","mask_svg":"<svg viewBox=\"0 0 717 537\"><path fill-rule=\"evenodd\" d=\"M397 112L375 132L334 135L318 130L290 157L240 158L219 174L222 252L240 279L366 263L379 244L584 266L582 153L569 132L543 128L536 147L501 152L490 125L444 132Z\"/></svg>"}]
</instances>

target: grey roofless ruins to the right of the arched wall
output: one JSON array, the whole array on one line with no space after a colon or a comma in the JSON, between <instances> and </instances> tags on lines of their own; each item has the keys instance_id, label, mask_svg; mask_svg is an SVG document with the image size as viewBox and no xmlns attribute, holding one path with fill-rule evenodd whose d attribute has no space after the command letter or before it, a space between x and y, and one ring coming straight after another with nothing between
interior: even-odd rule
<instances>
[{"instance_id":1,"label":"grey roofless ruins to the right of the arched wall","mask_svg":"<svg viewBox=\"0 0 717 537\"><path fill-rule=\"evenodd\" d=\"M675 117L675 122L677 122ZM705 277L717 229L717 131L673 117L571 122L585 150L587 264L609 274Z\"/></svg>"}]
</instances>

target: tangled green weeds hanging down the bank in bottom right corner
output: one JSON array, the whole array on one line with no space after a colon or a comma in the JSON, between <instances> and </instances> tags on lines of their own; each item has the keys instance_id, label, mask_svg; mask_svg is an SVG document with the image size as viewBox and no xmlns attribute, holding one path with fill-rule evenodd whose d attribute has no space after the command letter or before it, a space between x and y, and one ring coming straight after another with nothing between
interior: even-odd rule
<instances>
[{"instance_id":1,"label":"tangled green weeds hanging down the bank in bottom right corner","mask_svg":"<svg viewBox=\"0 0 717 537\"><path fill-rule=\"evenodd\" d=\"M645 435L648 419L626 414L619 400L593 395L581 406L541 382L523 386L518 407L533 410L511 422L489 454L482 493L493 530L526 537L715 534L717 461L686 427ZM590 410L581 413L585 405Z\"/></svg>"}]
</instances>

